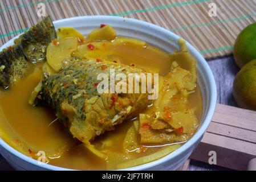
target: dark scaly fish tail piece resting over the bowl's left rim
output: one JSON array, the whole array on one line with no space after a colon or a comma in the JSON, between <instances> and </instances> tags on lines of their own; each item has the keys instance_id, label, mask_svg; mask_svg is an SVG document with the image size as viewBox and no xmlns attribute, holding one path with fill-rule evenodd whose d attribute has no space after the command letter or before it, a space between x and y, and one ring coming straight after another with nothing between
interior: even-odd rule
<instances>
[{"instance_id":1,"label":"dark scaly fish tail piece resting over the bowl's left rim","mask_svg":"<svg viewBox=\"0 0 256 182\"><path fill-rule=\"evenodd\" d=\"M56 38L49 16L14 40L14 45L0 52L0 86L9 88L32 63L46 60L46 48Z\"/></svg>"}]
</instances>

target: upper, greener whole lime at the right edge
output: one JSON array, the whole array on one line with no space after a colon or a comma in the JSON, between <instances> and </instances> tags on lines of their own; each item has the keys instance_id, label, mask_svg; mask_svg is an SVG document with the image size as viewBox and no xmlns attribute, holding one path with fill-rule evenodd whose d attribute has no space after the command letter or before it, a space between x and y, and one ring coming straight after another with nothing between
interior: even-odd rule
<instances>
[{"instance_id":1,"label":"upper, greener whole lime at the right edge","mask_svg":"<svg viewBox=\"0 0 256 182\"><path fill-rule=\"evenodd\" d=\"M234 45L234 60L239 68L256 59L256 23L250 24L237 36Z\"/></svg>"}]
</instances>

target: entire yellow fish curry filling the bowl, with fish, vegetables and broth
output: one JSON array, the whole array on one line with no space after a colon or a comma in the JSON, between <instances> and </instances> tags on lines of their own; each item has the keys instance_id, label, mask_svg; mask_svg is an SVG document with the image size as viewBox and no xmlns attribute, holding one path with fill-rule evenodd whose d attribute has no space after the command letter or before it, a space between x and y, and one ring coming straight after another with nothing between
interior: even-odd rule
<instances>
[{"instance_id":1,"label":"entire yellow fish curry filling the bowl, with fish, vegetables and broth","mask_svg":"<svg viewBox=\"0 0 256 182\"><path fill-rule=\"evenodd\" d=\"M16 44L0 53L0 137L12 147L34 159L43 151L55 166L122 169L160 159L193 136L202 101L184 41L166 53L111 25L83 36L72 27L46 31L53 27L46 20L15 42L29 53ZM32 30L47 40L28 41ZM143 81L157 89L144 92Z\"/></svg>"}]
</instances>

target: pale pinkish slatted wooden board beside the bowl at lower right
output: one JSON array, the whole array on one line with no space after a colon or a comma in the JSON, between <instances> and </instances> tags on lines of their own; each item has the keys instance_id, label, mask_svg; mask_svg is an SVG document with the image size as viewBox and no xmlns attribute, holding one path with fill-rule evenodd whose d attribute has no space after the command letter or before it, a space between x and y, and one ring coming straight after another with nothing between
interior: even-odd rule
<instances>
[{"instance_id":1,"label":"pale pinkish slatted wooden board beside the bowl at lower right","mask_svg":"<svg viewBox=\"0 0 256 182\"><path fill-rule=\"evenodd\" d=\"M217 165L236 170L256 170L256 111L218 104L204 138L190 159L208 163L215 151Z\"/></svg>"}]
</instances>

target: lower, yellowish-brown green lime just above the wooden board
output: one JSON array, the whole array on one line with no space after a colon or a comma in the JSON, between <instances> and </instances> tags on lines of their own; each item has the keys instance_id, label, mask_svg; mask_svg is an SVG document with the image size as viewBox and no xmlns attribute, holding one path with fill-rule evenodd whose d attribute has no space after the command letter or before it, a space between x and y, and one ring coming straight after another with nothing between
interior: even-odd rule
<instances>
[{"instance_id":1,"label":"lower, yellowish-brown green lime just above the wooden board","mask_svg":"<svg viewBox=\"0 0 256 182\"><path fill-rule=\"evenodd\" d=\"M256 59L247 63L235 76L233 95L240 107L256 110Z\"/></svg>"}]
</instances>

